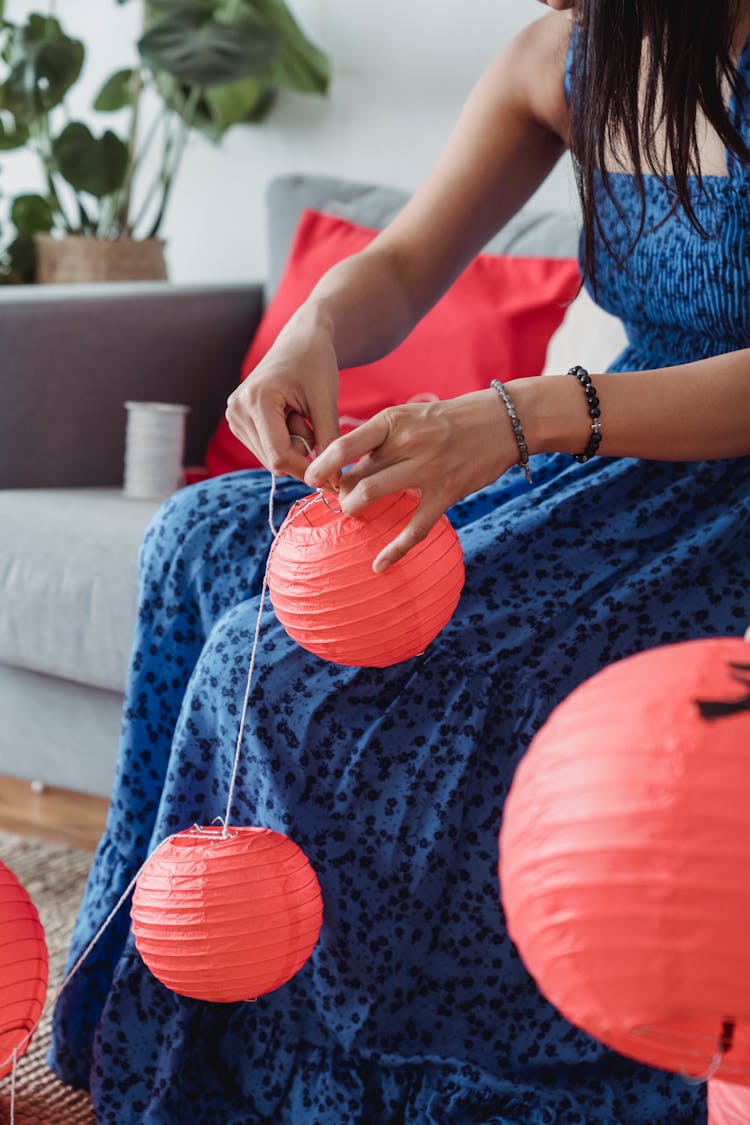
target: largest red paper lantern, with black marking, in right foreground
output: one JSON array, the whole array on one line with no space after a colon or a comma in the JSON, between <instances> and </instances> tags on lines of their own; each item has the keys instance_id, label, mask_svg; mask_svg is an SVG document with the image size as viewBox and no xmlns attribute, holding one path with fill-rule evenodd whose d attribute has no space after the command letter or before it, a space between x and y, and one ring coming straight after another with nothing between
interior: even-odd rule
<instances>
[{"instance_id":1,"label":"largest red paper lantern, with black marking, in right foreground","mask_svg":"<svg viewBox=\"0 0 750 1125\"><path fill-rule=\"evenodd\" d=\"M625 1055L750 1081L749 872L742 640L605 668L521 762L500 831L510 936L544 996Z\"/></svg>"}]
</instances>

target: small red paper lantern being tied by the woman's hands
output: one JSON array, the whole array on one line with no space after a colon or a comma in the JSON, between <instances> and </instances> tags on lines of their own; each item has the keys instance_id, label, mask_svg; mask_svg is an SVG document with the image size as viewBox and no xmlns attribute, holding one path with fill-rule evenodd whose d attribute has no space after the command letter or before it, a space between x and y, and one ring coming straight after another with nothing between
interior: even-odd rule
<instances>
[{"instance_id":1,"label":"small red paper lantern being tied by the woman's hands","mask_svg":"<svg viewBox=\"0 0 750 1125\"><path fill-rule=\"evenodd\" d=\"M383 574L372 560L418 504L401 492L344 515L334 495L291 508L271 549L269 593L290 637L335 664L385 668L424 652L463 586L463 552L446 516Z\"/></svg>"}]
</instances>

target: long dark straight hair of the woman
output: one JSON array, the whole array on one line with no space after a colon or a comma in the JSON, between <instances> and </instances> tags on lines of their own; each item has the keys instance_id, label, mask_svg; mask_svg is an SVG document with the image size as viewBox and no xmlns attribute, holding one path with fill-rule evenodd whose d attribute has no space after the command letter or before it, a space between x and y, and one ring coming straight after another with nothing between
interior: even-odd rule
<instances>
[{"instance_id":1,"label":"long dark straight hair of the woman","mask_svg":"<svg viewBox=\"0 0 750 1125\"><path fill-rule=\"evenodd\" d=\"M615 153L635 177L641 223L633 245L644 226L645 172L661 179L672 209L681 207L706 235L689 187L690 177L701 184L698 110L728 150L750 161L725 97L728 88L739 96L732 63L739 9L740 0L577 0L571 151L584 210L584 272L595 286L595 236L612 250L596 207L597 169L617 207L607 174L608 153ZM649 45L642 62L645 35ZM657 145L658 126L663 126L666 154Z\"/></svg>"}]
</instances>

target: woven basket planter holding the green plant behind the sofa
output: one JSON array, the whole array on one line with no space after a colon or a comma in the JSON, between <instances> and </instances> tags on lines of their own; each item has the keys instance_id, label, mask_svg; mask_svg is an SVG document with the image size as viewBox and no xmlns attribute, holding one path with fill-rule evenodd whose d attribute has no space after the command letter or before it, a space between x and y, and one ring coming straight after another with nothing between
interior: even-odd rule
<instances>
[{"instance_id":1,"label":"woven basket planter holding the green plant behind the sofa","mask_svg":"<svg viewBox=\"0 0 750 1125\"><path fill-rule=\"evenodd\" d=\"M83 281L164 281L162 238L36 236L36 280L42 285Z\"/></svg>"}]
</instances>

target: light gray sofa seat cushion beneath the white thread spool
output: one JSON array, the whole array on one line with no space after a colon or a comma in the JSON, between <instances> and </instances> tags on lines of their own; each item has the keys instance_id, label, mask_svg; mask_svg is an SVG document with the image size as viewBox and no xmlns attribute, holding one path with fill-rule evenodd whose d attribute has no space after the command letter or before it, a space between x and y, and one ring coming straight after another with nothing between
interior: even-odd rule
<instances>
[{"instance_id":1,"label":"light gray sofa seat cushion beneath the white thread spool","mask_svg":"<svg viewBox=\"0 0 750 1125\"><path fill-rule=\"evenodd\" d=\"M0 490L0 662L121 692L156 507L108 488Z\"/></svg>"}]
</instances>

